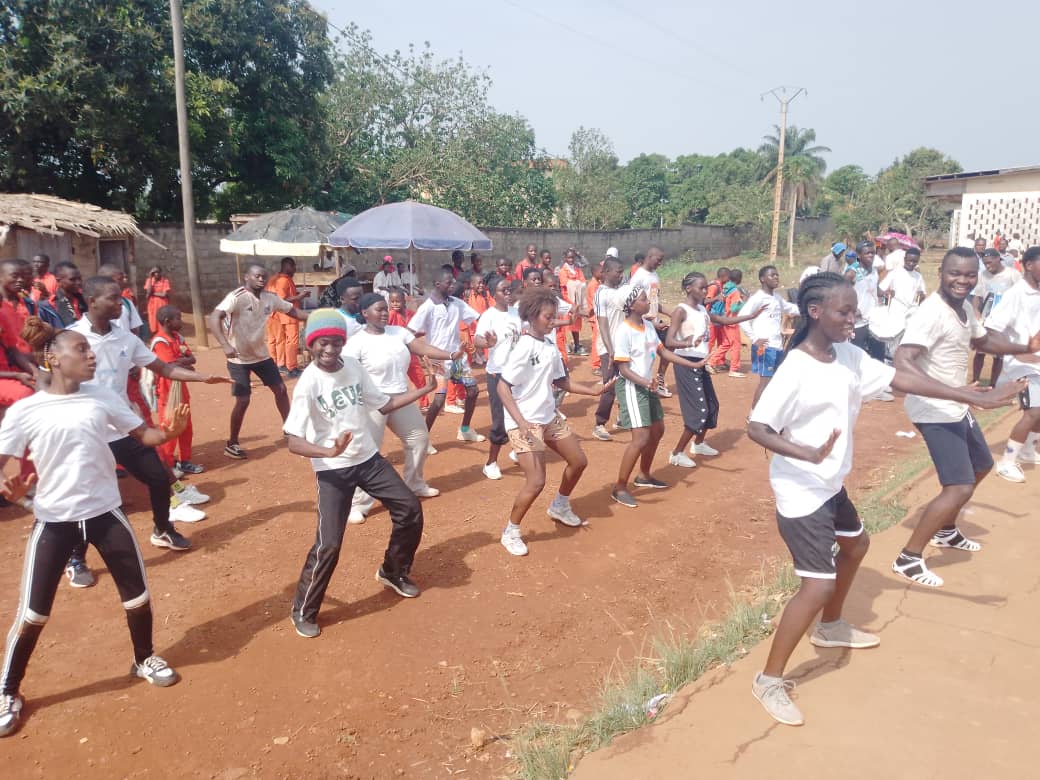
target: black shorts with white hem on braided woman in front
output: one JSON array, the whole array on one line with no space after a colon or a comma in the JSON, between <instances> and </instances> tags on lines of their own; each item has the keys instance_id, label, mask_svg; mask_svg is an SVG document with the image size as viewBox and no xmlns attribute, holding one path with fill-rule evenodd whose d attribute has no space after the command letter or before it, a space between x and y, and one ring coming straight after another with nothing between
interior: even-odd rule
<instances>
[{"instance_id":1,"label":"black shorts with white hem on braided woman in front","mask_svg":"<svg viewBox=\"0 0 1040 780\"><path fill-rule=\"evenodd\" d=\"M837 537L858 537L863 532L859 513L844 488L805 517L784 517L778 512L777 525L795 560L795 573L814 579L834 579L836 576L834 540Z\"/></svg>"}]
</instances>

